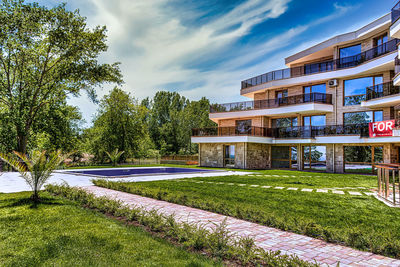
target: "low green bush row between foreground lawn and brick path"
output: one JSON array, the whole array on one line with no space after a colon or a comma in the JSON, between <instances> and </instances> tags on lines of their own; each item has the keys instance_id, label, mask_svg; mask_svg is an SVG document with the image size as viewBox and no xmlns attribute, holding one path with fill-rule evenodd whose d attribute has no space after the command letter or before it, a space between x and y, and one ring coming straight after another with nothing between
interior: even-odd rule
<instances>
[{"instance_id":1,"label":"low green bush row between foreground lawn and brick path","mask_svg":"<svg viewBox=\"0 0 400 267\"><path fill-rule=\"evenodd\" d=\"M177 222L174 216L166 216L156 210L146 211L140 207L128 207L119 201L96 197L83 189L67 185L48 185L46 190L126 222L139 223L152 233L177 242L190 251L206 253L233 265L318 266L293 255L281 255L280 252L258 248L252 238L232 235L226 228L226 222L215 225L213 230L210 230L202 225Z\"/></svg>"}]
</instances>

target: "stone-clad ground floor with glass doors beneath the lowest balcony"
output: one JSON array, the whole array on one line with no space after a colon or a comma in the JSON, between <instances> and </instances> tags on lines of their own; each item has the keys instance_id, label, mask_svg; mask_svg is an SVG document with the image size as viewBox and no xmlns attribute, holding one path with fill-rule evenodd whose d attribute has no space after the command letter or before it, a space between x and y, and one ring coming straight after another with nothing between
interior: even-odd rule
<instances>
[{"instance_id":1,"label":"stone-clad ground floor with glass doors beneath the lowest balcony","mask_svg":"<svg viewBox=\"0 0 400 267\"><path fill-rule=\"evenodd\" d=\"M199 165L238 169L293 169L373 173L378 163L399 163L400 143L199 143Z\"/></svg>"}]
</instances>

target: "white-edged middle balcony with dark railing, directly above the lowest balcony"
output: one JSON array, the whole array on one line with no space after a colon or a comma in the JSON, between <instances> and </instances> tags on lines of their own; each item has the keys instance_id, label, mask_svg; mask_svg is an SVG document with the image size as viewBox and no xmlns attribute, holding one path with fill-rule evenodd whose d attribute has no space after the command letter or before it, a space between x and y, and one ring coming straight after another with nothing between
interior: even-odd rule
<instances>
[{"instance_id":1,"label":"white-edged middle balcony with dark railing, directly above the lowest balcony","mask_svg":"<svg viewBox=\"0 0 400 267\"><path fill-rule=\"evenodd\" d=\"M210 119L276 116L333 112L332 95L310 93L276 99L264 99L210 106Z\"/></svg>"}]
</instances>

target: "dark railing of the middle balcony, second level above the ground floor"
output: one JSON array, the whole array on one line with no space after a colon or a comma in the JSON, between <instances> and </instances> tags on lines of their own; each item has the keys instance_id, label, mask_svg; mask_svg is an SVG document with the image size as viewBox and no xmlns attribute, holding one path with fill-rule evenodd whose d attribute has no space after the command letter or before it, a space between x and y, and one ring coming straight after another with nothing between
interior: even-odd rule
<instances>
[{"instance_id":1,"label":"dark railing of the middle balcony, second level above the ground floor","mask_svg":"<svg viewBox=\"0 0 400 267\"><path fill-rule=\"evenodd\" d=\"M210 106L210 113L270 109L304 103L332 104L332 95L323 93L309 93L275 99L264 99L227 104L213 104Z\"/></svg>"}]
</instances>

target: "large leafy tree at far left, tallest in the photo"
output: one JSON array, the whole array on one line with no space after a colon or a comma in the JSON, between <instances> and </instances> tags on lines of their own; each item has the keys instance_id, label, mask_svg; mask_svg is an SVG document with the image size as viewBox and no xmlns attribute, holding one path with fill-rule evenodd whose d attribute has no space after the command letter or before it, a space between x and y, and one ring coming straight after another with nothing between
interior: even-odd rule
<instances>
[{"instance_id":1,"label":"large leafy tree at far left, tallest in the photo","mask_svg":"<svg viewBox=\"0 0 400 267\"><path fill-rule=\"evenodd\" d=\"M0 4L0 105L25 153L38 114L67 95L121 83L119 63L99 64L107 50L106 28L89 29L65 4L48 9L23 0Z\"/></svg>"}]
</instances>

